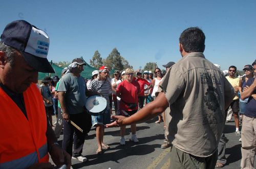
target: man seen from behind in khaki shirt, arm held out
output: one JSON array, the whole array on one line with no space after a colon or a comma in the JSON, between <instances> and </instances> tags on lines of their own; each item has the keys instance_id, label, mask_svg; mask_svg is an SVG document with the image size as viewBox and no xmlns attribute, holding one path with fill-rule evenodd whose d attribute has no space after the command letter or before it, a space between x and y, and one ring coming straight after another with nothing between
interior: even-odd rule
<instances>
[{"instance_id":1,"label":"man seen from behind in khaki shirt, arm held out","mask_svg":"<svg viewBox=\"0 0 256 169\"><path fill-rule=\"evenodd\" d=\"M130 117L117 119L108 127L129 125L172 110L169 134L174 137L170 168L215 168L218 143L225 122L225 108L234 90L222 71L205 59L205 35L190 27L180 36L182 59L170 67L155 101Z\"/></svg>"}]
</instances>

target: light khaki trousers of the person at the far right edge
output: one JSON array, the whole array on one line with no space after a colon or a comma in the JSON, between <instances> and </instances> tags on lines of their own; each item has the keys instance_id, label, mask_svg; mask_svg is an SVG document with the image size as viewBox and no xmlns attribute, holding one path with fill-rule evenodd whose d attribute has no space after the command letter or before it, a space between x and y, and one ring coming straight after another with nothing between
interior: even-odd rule
<instances>
[{"instance_id":1,"label":"light khaki trousers of the person at the far right edge","mask_svg":"<svg viewBox=\"0 0 256 169\"><path fill-rule=\"evenodd\" d=\"M254 168L254 156L256 151L256 119L243 116L241 131L242 138L242 159L241 168Z\"/></svg>"}]
</instances>

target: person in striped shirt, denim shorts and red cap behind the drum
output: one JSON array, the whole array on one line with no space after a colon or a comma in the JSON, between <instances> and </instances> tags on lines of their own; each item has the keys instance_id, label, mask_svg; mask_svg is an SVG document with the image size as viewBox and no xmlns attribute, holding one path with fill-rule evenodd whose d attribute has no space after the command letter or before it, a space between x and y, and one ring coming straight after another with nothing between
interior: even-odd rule
<instances>
[{"instance_id":1,"label":"person in striped shirt, denim shorts and red cap behind the drum","mask_svg":"<svg viewBox=\"0 0 256 169\"><path fill-rule=\"evenodd\" d=\"M92 92L98 92L99 95L103 96L106 101L106 109L99 116L92 116L92 125L96 127L96 139L98 142L98 149L96 154L101 154L102 149L109 149L108 145L103 143L104 136L104 125L110 123L110 94L112 93L112 86L109 80L109 68L101 66L99 68L98 77L94 79L88 86L88 90Z\"/></svg>"}]
</instances>

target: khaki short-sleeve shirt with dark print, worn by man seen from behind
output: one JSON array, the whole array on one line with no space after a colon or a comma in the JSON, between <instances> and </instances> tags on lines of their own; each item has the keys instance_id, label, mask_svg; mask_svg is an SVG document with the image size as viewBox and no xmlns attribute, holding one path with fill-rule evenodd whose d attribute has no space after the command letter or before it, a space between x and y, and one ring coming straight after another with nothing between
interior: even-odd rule
<instances>
[{"instance_id":1,"label":"khaki short-sleeve shirt with dark print, worn by man seen from behind","mask_svg":"<svg viewBox=\"0 0 256 169\"><path fill-rule=\"evenodd\" d=\"M222 71L203 53L189 53L167 71L160 88L170 105L173 145L195 156L212 155L224 127L224 95L234 94Z\"/></svg>"}]
</instances>

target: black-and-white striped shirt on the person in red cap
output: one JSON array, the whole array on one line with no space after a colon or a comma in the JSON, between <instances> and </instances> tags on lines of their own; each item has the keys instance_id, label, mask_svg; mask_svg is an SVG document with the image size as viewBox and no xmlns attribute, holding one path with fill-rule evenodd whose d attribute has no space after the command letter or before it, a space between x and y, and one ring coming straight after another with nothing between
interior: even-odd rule
<instances>
[{"instance_id":1,"label":"black-and-white striped shirt on the person in red cap","mask_svg":"<svg viewBox=\"0 0 256 169\"><path fill-rule=\"evenodd\" d=\"M106 79L105 81L101 81L99 79L94 79L91 81L91 83L88 86L88 90L90 91L96 91L99 92L104 96L106 101L108 101L108 104L106 106L107 109L110 109L110 99L109 95L112 93L112 86L109 79Z\"/></svg>"}]
</instances>

